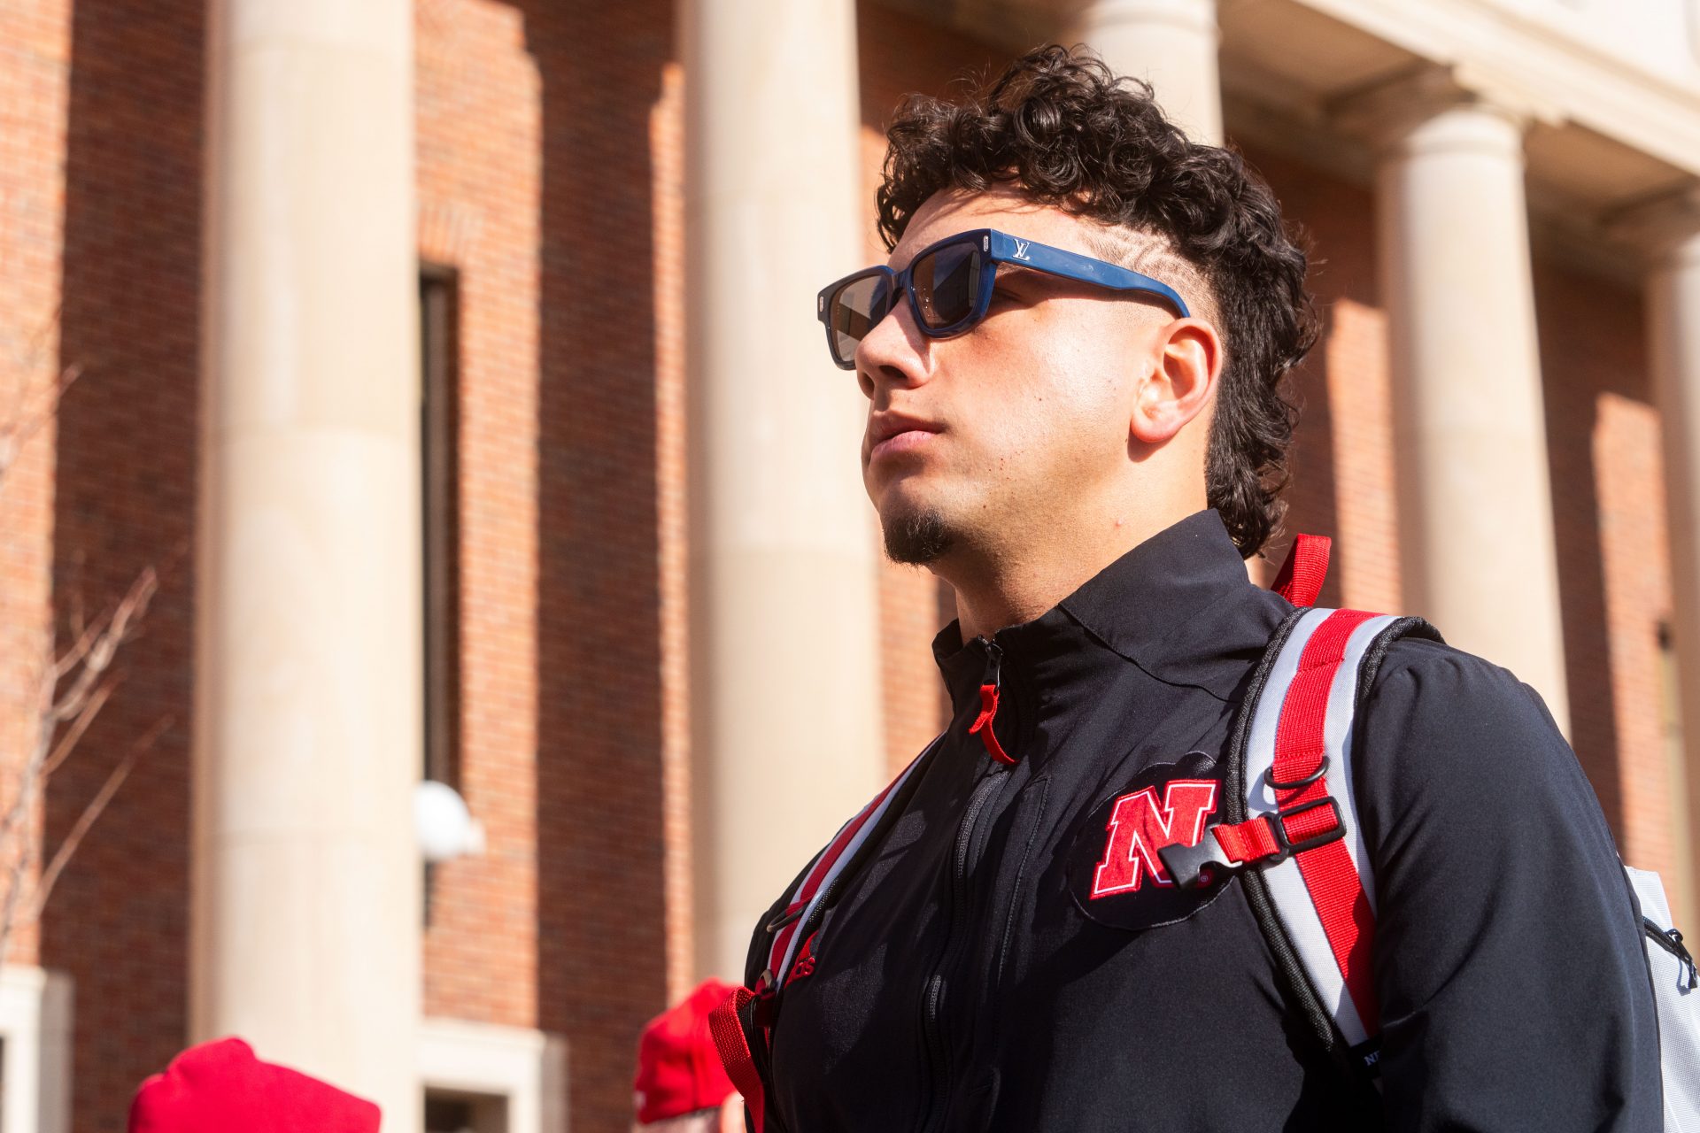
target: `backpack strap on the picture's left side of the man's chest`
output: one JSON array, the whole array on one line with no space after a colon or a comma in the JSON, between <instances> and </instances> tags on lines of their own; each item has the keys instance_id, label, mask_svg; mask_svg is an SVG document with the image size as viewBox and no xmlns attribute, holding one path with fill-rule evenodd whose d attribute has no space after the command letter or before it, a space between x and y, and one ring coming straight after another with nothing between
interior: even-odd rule
<instances>
[{"instance_id":1,"label":"backpack strap on the picture's left side of the man's chest","mask_svg":"<svg viewBox=\"0 0 1700 1133\"><path fill-rule=\"evenodd\" d=\"M774 1021L779 1014L779 995L802 968L799 948L808 948L814 929L840 888L848 883L877 846L891 820L903 814L904 805L920 783L916 769L938 747L938 736L894 778L886 790L838 827L833 841L814 858L797 885L785 899L785 907L767 924L767 968L755 987L736 989L709 1017L709 1033L721 1055L726 1075L745 1097L745 1109L753 1133L784 1133L770 1099L774 1079L770 1072L770 1046Z\"/></svg>"}]
</instances>

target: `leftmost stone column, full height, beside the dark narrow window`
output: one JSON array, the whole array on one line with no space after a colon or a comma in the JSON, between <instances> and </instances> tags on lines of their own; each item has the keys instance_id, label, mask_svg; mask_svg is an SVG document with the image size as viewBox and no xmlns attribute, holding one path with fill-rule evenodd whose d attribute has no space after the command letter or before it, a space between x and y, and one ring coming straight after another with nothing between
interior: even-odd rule
<instances>
[{"instance_id":1,"label":"leftmost stone column, full height, beside the dark narrow window","mask_svg":"<svg viewBox=\"0 0 1700 1133\"><path fill-rule=\"evenodd\" d=\"M416 1130L413 5L214 0L194 1040Z\"/></svg>"}]
</instances>

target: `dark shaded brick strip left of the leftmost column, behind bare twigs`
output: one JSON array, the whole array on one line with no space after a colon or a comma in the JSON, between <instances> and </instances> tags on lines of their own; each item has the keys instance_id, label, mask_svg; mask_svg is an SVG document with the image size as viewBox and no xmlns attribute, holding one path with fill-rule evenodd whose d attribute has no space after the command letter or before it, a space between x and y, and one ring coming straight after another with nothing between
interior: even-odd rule
<instances>
[{"instance_id":1,"label":"dark shaded brick strip left of the leftmost column, behind bare twigs","mask_svg":"<svg viewBox=\"0 0 1700 1133\"><path fill-rule=\"evenodd\" d=\"M119 1133L141 1079L185 1040L189 720L201 304L201 0L76 0L65 170L53 595L162 588L124 683L53 778L48 851L134 739L170 724L53 893L42 963L76 980L71 1126Z\"/></svg>"}]
</instances>

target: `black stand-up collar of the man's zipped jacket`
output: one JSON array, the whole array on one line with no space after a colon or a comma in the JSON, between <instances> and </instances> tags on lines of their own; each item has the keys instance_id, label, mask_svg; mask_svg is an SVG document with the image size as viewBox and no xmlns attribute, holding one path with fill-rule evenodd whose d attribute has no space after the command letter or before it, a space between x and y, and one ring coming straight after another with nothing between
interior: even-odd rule
<instances>
[{"instance_id":1,"label":"black stand-up collar of the man's zipped jacket","mask_svg":"<svg viewBox=\"0 0 1700 1133\"><path fill-rule=\"evenodd\" d=\"M1253 586L1221 516L1198 511L1108 564L1039 618L993 637L1001 654L1012 730L1030 730L1057 685L1091 679L1103 666L1132 662L1168 685L1234 702L1290 610ZM979 712L988 651L962 642L955 622L933 639L957 717ZM1025 727L1023 727L1025 724ZM1000 712L998 736L1005 736ZM1022 742L1022 736L1012 736Z\"/></svg>"}]
</instances>

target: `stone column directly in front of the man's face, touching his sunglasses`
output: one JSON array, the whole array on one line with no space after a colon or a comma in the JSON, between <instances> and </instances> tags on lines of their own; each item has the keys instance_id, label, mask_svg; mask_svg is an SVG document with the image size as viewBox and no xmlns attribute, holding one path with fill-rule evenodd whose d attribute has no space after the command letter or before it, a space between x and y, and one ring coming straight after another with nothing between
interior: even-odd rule
<instances>
[{"instance_id":1,"label":"stone column directly in front of the man's face, touching his sunglasses","mask_svg":"<svg viewBox=\"0 0 1700 1133\"><path fill-rule=\"evenodd\" d=\"M695 951L750 931L884 781L865 401L814 294L857 267L852 0L682 0Z\"/></svg>"}]
</instances>

